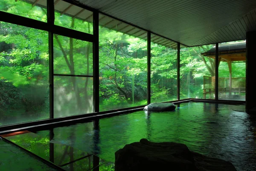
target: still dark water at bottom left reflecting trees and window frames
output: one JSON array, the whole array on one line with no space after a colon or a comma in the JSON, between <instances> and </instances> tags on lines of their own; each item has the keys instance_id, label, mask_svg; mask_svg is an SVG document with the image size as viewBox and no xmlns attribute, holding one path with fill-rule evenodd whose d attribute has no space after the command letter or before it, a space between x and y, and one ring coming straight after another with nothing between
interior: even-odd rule
<instances>
[{"instance_id":1,"label":"still dark water at bottom left reflecting trees and window frames","mask_svg":"<svg viewBox=\"0 0 256 171\"><path fill-rule=\"evenodd\" d=\"M76 127L73 127L71 130L75 131L75 128ZM99 168L101 168L102 171L107 171L113 168L113 163L99 159L99 157L85 151L78 150L73 147L74 144L69 146L61 142L51 141L54 137L53 129L44 131L43 134L44 137L36 133L23 131L4 136L6 139L15 142L17 145L20 145L43 159L55 163L55 165L58 165L66 171L99 171ZM47 134L49 136L47 136ZM75 138L75 134L70 134L69 138Z\"/></svg>"}]
</instances>

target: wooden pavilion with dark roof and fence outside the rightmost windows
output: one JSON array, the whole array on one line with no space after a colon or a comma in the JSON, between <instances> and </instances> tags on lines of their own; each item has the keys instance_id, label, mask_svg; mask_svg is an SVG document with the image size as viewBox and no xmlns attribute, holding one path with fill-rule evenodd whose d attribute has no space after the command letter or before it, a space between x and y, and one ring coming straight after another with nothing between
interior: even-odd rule
<instances>
[{"instance_id":1,"label":"wooden pavilion with dark roof and fence outside the rightmost windows","mask_svg":"<svg viewBox=\"0 0 256 171\"><path fill-rule=\"evenodd\" d=\"M229 68L229 78L220 78L229 81L228 87L227 84L220 84L218 85L219 95L225 95L229 93L229 96L233 93L245 93L245 78L232 78L232 63L238 61L246 61L246 42L239 41L239 42L232 42L232 43L220 43L219 44L219 53L218 53L218 65L221 61L227 62ZM201 53L208 58L215 59L215 46L207 52ZM244 82L242 86L232 86L232 83L236 79L241 79ZM211 80L210 83L207 80ZM241 84L240 84L241 85ZM212 97L212 93L215 93L215 77L207 77L204 76L204 87L203 87L203 94L204 99L206 99L207 94L209 94L210 98Z\"/></svg>"}]
</instances>

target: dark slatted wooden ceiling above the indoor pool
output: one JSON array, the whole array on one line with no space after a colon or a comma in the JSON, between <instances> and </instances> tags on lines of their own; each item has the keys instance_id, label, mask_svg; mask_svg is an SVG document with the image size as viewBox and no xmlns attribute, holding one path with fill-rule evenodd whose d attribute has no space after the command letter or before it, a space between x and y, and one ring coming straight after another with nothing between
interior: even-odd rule
<instances>
[{"instance_id":1,"label":"dark slatted wooden ceiling above the indoor pool","mask_svg":"<svg viewBox=\"0 0 256 171\"><path fill-rule=\"evenodd\" d=\"M256 30L256 0L77 1L187 46L242 40Z\"/></svg>"}]
</instances>

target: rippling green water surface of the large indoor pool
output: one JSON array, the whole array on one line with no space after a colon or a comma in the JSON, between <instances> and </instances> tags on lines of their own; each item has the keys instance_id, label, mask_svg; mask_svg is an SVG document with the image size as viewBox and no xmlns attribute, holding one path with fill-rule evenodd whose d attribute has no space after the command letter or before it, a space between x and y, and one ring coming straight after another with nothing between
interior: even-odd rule
<instances>
[{"instance_id":1,"label":"rippling green water surface of the large indoor pool","mask_svg":"<svg viewBox=\"0 0 256 171\"><path fill-rule=\"evenodd\" d=\"M247 113L233 110L239 108L183 103L172 112L138 111L100 119L96 130L93 122L55 128L53 140L110 161L115 151L142 138L178 142L191 151L230 161L238 171L254 171L256 125Z\"/></svg>"}]
</instances>

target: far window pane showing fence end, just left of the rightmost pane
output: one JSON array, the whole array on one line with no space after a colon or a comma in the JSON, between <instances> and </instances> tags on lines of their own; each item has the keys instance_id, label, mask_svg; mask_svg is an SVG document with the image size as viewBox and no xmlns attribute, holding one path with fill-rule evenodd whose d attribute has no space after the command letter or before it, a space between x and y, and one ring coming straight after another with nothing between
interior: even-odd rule
<instances>
[{"instance_id":1,"label":"far window pane showing fence end, just left of the rightmost pane","mask_svg":"<svg viewBox=\"0 0 256 171\"><path fill-rule=\"evenodd\" d=\"M215 56L204 53L213 46L180 48L180 99L215 99Z\"/></svg>"}]
</instances>

